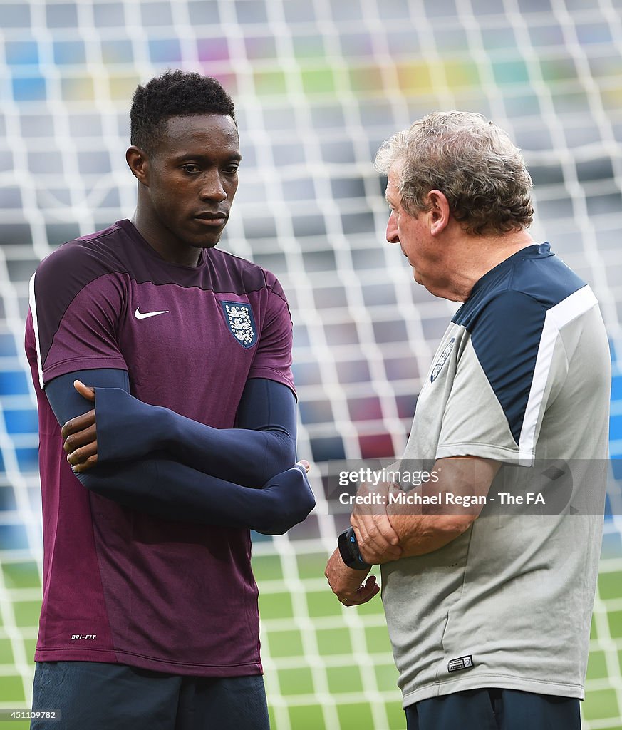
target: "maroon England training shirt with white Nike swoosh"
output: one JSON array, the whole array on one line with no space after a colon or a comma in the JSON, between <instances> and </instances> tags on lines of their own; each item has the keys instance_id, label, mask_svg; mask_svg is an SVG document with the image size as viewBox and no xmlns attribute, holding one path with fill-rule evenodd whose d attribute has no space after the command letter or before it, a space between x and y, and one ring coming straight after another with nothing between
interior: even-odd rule
<instances>
[{"instance_id":1,"label":"maroon England training shirt with white Nike swoosh","mask_svg":"<svg viewBox=\"0 0 622 730\"><path fill-rule=\"evenodd\" d=\"M80 369L125 369L142 401L228 429L249 377L293 390L291 347L279 282L220 250L203 250L196 268L168 264L120 220L42 261L26 323L44 537L36 661L261 672L249 531L160 520L90 493L42 388Z\"/></svg>"}]
</instances>

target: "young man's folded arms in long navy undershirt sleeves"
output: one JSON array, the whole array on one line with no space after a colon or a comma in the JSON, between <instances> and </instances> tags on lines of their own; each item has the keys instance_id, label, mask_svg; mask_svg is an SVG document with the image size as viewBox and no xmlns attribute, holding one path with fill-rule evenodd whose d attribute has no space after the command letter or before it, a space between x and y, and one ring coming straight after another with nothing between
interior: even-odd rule
<instances>
[{"instance_id":1,"label":"young man's folded arms in long navy undershirt sleeves","mask_svg":"<svg viewBox=\"0 0 622 730\"><path fill-rule=\"evenodd\" d=\"M80 379L95 387L74 388ZM308 464L293 464L295 399L286 386L249 380L239 428L222 430L145 404L128 390L128 374L113 369L70 373L46 387L65 424L69 463L90 491L168 520L269 534L287 531L313 509Z\"/></svg>"}]
</instances>

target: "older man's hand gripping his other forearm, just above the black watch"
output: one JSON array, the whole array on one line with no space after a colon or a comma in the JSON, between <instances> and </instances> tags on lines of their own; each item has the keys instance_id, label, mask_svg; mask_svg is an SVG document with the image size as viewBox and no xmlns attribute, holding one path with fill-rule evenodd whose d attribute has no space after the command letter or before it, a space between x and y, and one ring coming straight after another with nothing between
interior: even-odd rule
<instances>
[{"instance_id":1,"label":"older man's hand gripping his other forearm, just above the black watch","mask_svg":"<svg viewBox=\"0 0 622 730\"><path fill-rule=\"evenodd\" d=\"M372 493L378 496L381 504L357 504L350 518L359 544L359 553L366 563L381 564L397 560L402 556L400 537L391 526L386 515L387 495L391 485L383 484L367 488L365 485L357 492L357 496Z\"/></svg>"}]
</instances>

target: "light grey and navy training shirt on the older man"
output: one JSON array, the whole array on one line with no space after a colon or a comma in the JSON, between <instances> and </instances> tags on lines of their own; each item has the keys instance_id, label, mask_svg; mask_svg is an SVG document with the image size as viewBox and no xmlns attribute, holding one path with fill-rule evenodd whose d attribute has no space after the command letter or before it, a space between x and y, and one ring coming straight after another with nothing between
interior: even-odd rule
<instances>
[{"instance_id":1,"label":"light grey and navy training shirt on the older man","mask_svg":"<svg viewBox=\"0 0 622 730\"><path fill-rule=\"evenodd\" d=\"M480 687L583 696L609 399L598 303L548 244L475 284L432 361L402 463L504 466L464 534L382 566L405 706ZM528 491L548 506L500 498Z\"/></svg>"}]
</instances>

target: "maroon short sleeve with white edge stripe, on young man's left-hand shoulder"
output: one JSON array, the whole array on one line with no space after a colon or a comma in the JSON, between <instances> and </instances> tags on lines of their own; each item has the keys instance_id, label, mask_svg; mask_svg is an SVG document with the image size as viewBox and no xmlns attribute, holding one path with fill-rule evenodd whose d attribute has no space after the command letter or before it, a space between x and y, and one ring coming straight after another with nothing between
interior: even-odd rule
<instances>
[{"instance_id":1,"label":"maroon short sleeve with white edge stripe, on young man's left-hand shoulder","mask_svg":"<svg viewBox=\"0 0 622 730\"><path fill-rule=\"evenodd\" d=\"M123 277L79 242L61 246L31 279L39 385L79 369L127 370L117 341Z\"/></svg>"}]
</instances>

